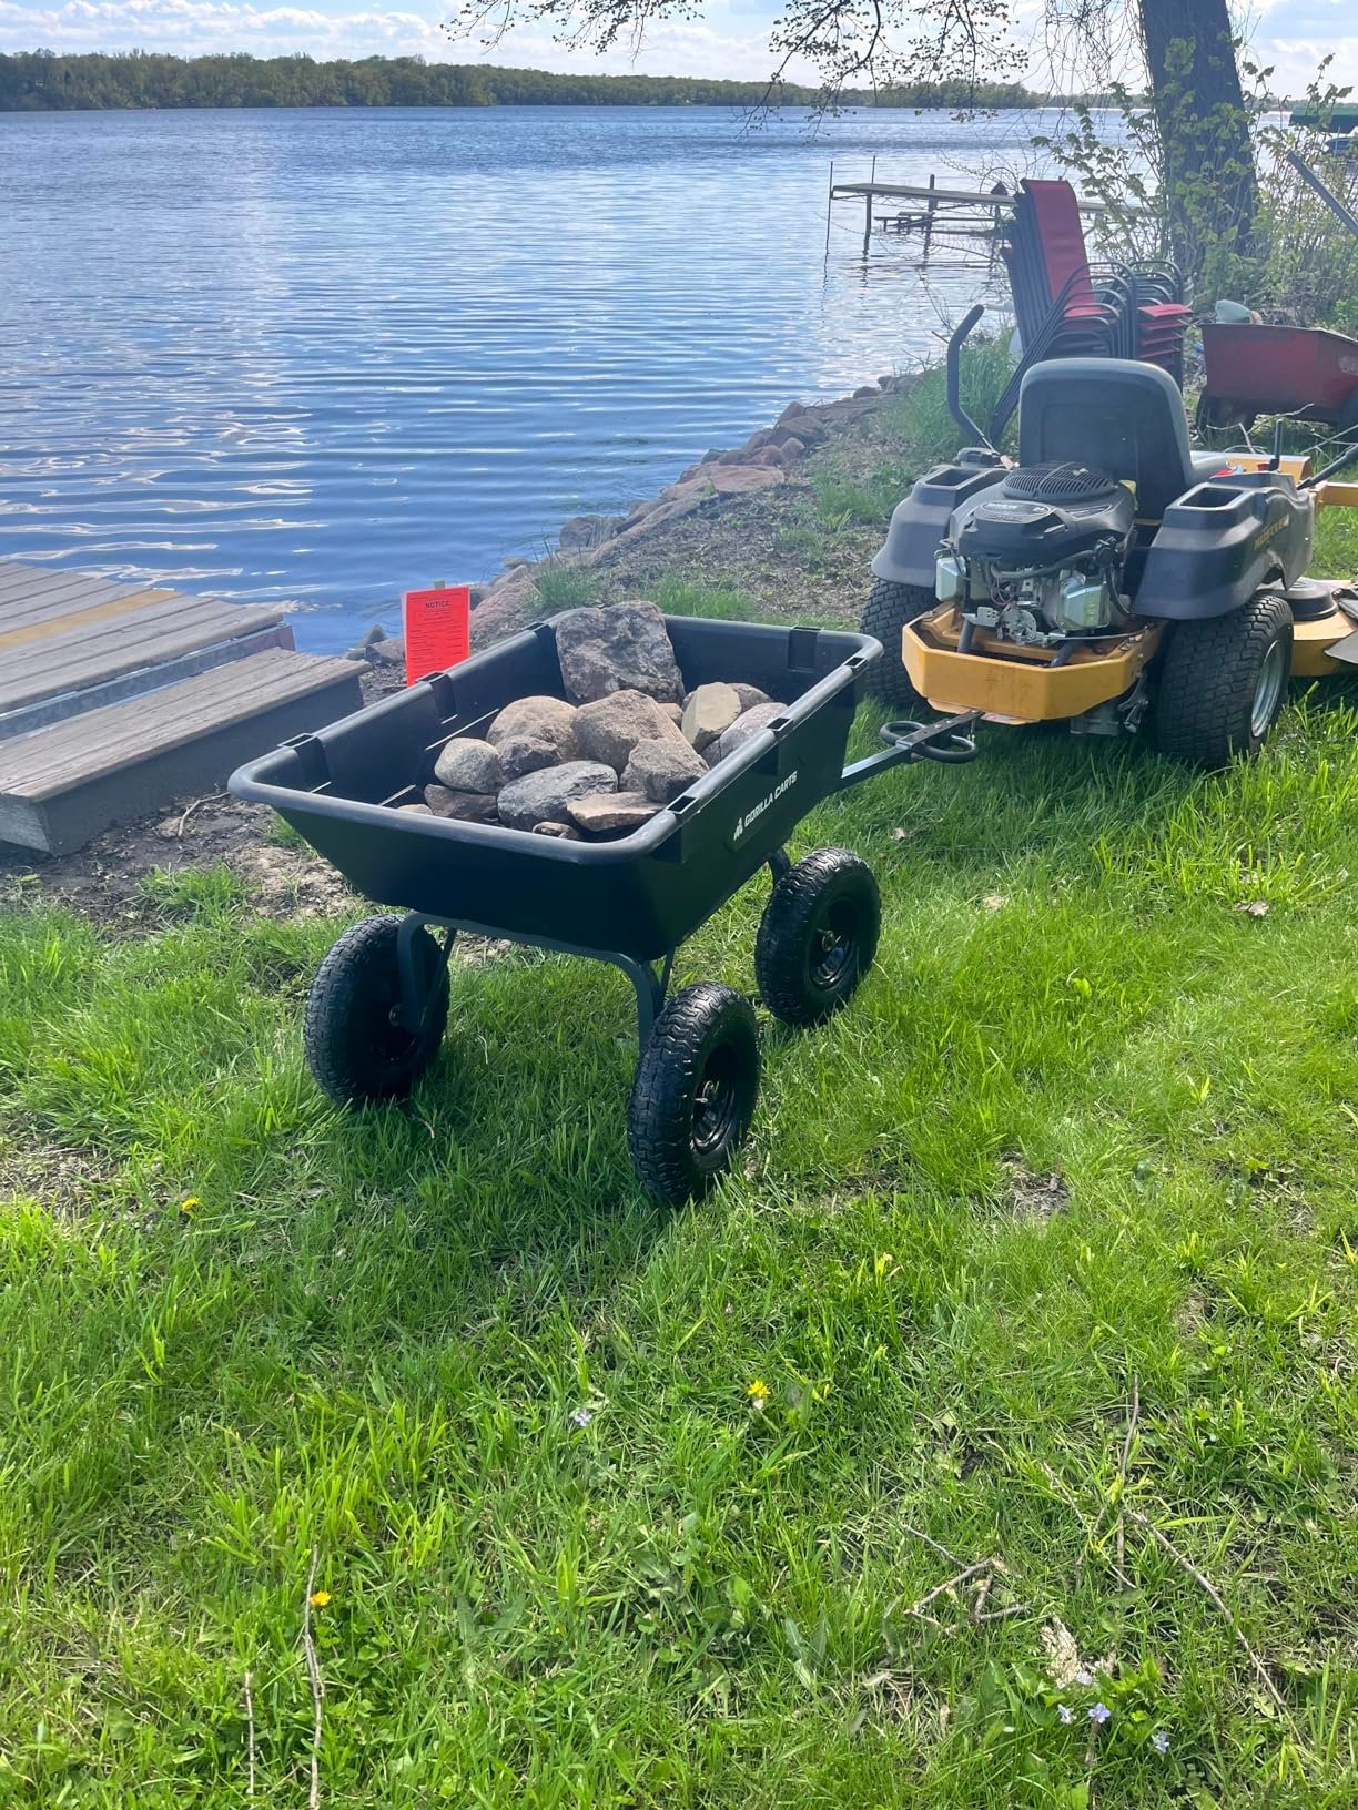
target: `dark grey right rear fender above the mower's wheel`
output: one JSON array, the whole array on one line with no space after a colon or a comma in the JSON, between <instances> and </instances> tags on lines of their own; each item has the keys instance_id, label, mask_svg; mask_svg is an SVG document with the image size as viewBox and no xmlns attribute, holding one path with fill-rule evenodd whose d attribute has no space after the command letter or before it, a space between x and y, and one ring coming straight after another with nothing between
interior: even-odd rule
<instances>
[{"instance_id":1,"label":"dark grey right rear fender above the mower's wheel","mask_svg":"<svg viewBox=\"0 0 1358 1810\"><path fill-rule=\"evenodd\" d=\"M1193 485L1164 510L1137 586L1137 615L1202 621L1242 610L1262 585L1296 583L1311 561L1315 505L1284 472Z\"/></svg>"}]
</instances>

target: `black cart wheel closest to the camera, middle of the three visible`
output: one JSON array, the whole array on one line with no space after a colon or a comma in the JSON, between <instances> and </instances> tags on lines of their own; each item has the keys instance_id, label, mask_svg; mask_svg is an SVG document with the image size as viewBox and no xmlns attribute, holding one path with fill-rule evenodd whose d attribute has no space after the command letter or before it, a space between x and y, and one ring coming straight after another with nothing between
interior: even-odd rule
<instances>
[{"instance_id":1,"label":"black cart wheel closest to the camera, middle of the three visible","mask_svg":"<svg viewBox=\"0 0 1358 1810\"><path fill-rule=\"evenodd\" d=\"M636 1171L659 1200L704 1193L744 1142L759 1095L759 1035L750 1001L703 981L655 1019L626 1108Z\"/></svg>"}]
</instances>

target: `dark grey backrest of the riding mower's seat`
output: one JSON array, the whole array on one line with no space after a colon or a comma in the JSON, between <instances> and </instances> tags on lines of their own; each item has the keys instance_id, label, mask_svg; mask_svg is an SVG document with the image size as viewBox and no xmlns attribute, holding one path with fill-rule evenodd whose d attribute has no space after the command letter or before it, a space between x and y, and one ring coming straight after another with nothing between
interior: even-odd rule
<instances>
[{"instance_id":1,"label":"dark grey backrest of the riding mower's seat","mask_svg":"<svg viewBox=\"0 0 1358 1810\"><path fill-rule=\"evenodd\" d=\"M1188 491L1193 454L1175 380L1133 358L1052 358L1019 389L1019 463L1070 460L1135 485L1137 516L1159 521Z\"/></svg>"}]
</instances>

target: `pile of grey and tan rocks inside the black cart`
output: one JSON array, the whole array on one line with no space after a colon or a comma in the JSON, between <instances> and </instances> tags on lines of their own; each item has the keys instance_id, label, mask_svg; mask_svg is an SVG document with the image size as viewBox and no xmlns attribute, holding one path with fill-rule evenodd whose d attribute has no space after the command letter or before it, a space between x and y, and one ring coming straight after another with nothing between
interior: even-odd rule
<instances>
[{"instance_id":1,"label":"pile of grey and tan rocks inside the black cart","mask_svg":"<svg viewBox=\"0 0 1358 1810\"><path fill-rule=\"evenodd\" d=\"M454 737L406 811L540 836L626 836L784 711L750 684L684 681L654 603L556 624L567 691L505 704L483 740Z\"/></svg>"}]
</instances>

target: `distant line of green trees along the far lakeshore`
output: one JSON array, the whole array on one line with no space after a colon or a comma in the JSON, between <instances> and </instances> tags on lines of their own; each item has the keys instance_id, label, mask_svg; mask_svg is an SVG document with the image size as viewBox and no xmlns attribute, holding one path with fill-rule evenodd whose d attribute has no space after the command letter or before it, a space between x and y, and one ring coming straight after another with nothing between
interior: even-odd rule
<instances>
[{"instance_id":1,"label":"distant line of green trees along the far lakeshore","mask_svg":"<svg viewBox=\"0 0 1358 1810\"><path fill-rule=\"evenodd\" d=\"M541 69L426 63L422 56L366 56L317 63L310 56L159 56L148 51L0 56L0 112L105 107L813 107L820 90L692 76L556 76ZM925 81L844 92L856 107L1038 107L1016 81L969 87Z\"/></svg>"}]
</instances>

